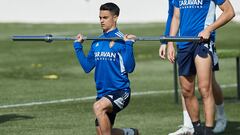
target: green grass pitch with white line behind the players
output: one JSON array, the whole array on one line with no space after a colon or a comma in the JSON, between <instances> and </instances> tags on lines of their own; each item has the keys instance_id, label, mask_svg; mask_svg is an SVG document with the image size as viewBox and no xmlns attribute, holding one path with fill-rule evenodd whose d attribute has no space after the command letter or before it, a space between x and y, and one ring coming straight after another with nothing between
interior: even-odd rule
<instances>
[{"instance_id":1,"label":"green grass pitch with white line behind the players","mask_svg":"<svg viewBox=\"0 0 240 135\"><path fill-rule=\"evenodd\" d=\"M156 36L164 24L120 24L124 33ZM223 135L239 135L240 101L236 91L236 56L240 56L239 23L217 31L220 72L228 126ZM98 35L96 24L0 24L0 134L93 135L95 96L93 72L85 74L75 57L72 42L13 42L12 35ZM89 49L87 41L85 51ZM142 135L166 135L182 124L181 104L174 103L173 69L158 57L159 42L137 42L136 68L129 75L129 106L119 113L115 127L136 127ZM56 80L45 75L57 75ZM90 99L84 99L90 97ZM80 98L80 99L79 99ZM64 102L60 102L64 100ZM67 100L73 100L65 102ZM46 103L57 101L57 103ZM43 105L10 107L27 103ZM3 108L8 106L8 108ZM202 110L201 110L202 112ZM203 114L201 113L203 118Z\"/></svg>"}]
</instances>

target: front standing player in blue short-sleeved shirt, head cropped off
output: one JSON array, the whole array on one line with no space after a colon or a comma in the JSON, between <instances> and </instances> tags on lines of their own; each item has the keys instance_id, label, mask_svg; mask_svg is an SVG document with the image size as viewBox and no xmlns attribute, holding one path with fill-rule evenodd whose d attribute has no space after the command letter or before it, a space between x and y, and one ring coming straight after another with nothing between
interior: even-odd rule
<instances>
[{"instance_id":1,"label":"front standing player in blue short-sleeved shirt, head cropped off","mask_svg":"<svg viewBox=\"0 0 240 135\"><path fill-rule=\"evenodd\" d=\"M223 13L215 21L215 5L219 5ZM179 79L186 108L194 127L194 135L212 135L214 124L214 98L212 93L212 65L215 30L234 17L234 10L228 0L173 0L174 14L170 36L201 36L210 39L209 43L177 43L177 62ZM160 51L161 54L161 51ZM168 42L168 59L175 61L173 42ZM195 75L198 88L203 99L205 128L199 118L198 100L194 95Z\"/></svg>"}]
</instances>

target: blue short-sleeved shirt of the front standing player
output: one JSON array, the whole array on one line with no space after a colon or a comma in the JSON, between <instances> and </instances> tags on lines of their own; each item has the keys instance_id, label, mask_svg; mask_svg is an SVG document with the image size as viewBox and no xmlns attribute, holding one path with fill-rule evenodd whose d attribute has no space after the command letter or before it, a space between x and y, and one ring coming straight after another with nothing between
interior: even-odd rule
<instances>
[{"instance_id":1,"label":"blue short-sleeved shirt of the front standing player","mask_svg":"<svg viewBox=\"0 0 240 135\"><path fill-rule=\"evenodd\" d=\"M175 7L180 9L179 36L198 36L207 26L216 20L216 5L225 0L173 0ZM215 41L215 31L210 35ZM179 48L185 48L191 42L177 42Z\"/></svg>"}]
</instances>

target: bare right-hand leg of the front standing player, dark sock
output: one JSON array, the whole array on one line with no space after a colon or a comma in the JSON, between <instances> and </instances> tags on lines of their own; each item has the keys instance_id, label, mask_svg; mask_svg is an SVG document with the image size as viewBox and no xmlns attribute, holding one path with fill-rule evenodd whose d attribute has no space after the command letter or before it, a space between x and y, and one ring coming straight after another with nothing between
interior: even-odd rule
<instances>
[{"instance_id":1,"label":"bare right-hand leg of the front standing player, dark sock","mask_svg":"<svg viewBox=\"0 0 240 135\"><path fill-rule=\"evenodd\" d=\"M195 65L198 77L198 89L202 96L205 115L205 134L212 134L215 114L215 101L212 93L212 62L211 56L196 56ZM193 120L193 119L192 119Z\"/></svg>"}]
</instances>

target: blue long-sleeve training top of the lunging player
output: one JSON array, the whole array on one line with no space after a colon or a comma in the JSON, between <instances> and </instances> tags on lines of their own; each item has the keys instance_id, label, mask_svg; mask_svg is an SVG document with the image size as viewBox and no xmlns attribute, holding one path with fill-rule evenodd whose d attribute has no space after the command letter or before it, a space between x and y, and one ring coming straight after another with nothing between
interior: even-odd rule
<instances>
[{"instance_id":1,"label":"blue long-sleeve training top of the lunging player","mask_svg":"<svg viewBox=\"0 0 240 135\"><path fill-rule=\"evenodd\" d=\"M123 34L116 28L100 36L109 37L123 37ZM74 42L75 53L83 70L89 73L95 68L97 98L116 90L130 92L128 73L135 68L132 41L114 41L110 48L110 41L96 40L92 42L87 56L82 48L80 42Z\"/></svg>"}]
</instances>

